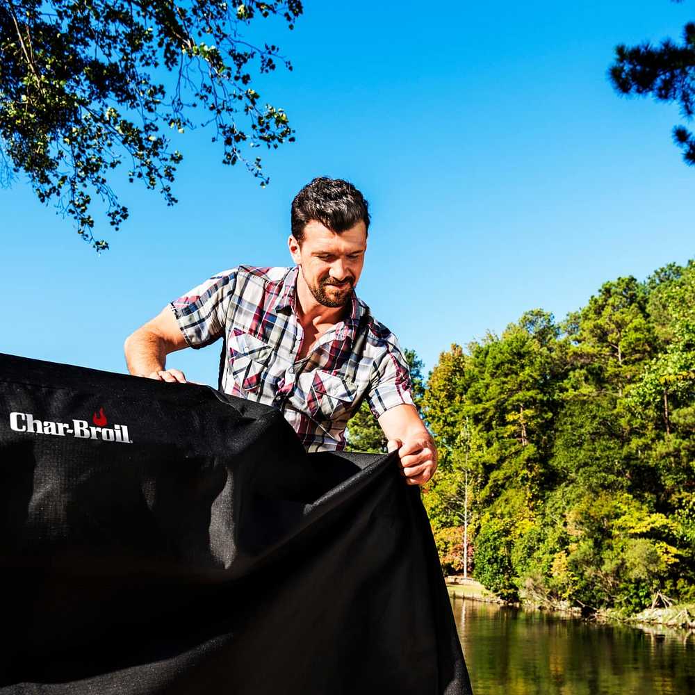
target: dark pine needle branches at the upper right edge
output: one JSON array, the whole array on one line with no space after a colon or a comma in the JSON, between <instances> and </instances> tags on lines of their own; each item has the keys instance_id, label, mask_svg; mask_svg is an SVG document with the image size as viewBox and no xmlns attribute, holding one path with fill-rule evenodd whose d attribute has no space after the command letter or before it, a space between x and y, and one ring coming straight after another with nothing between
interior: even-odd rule
<instances>
[{"instance_id":1,"label":"dark pine needle branches at the upper right edge","mask_svg":"<svg viewBox=\"0 0 695 695\"><path fill-rule=\"evenodd\" d=\"M690 120L695 113L695 23L685 25L681 44L671 39L656 47L650 42L632 47L620 44L608 74L619 94L651 95L667 104L675 102L682 116ZM695 165L693 133L683 125L675 126L673 141L682 149L685 163Z\"/></svg>"}]
</instances>

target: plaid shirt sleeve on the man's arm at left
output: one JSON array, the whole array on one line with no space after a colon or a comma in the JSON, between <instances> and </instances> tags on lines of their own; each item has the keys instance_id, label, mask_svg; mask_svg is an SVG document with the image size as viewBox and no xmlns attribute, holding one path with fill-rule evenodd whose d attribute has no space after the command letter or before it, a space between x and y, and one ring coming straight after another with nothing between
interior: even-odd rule
<instances>
[{"instance_id":1,"label":"plaid shirt sleeve on the man's arm at left","mask_svg":"<svg viewBox=\"0 0 695 695\"><path fill-rule=\"evenodd\" d=\"M190 347L205 347L224 333L234 299L237 268L224 270L170 303L179 329Z\"/></svg>"}]
</instances>

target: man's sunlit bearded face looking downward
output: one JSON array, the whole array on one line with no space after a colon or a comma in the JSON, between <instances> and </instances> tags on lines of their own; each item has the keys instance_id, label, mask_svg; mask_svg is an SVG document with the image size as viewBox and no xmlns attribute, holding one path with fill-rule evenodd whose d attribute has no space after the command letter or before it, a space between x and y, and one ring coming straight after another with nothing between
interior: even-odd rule
<instances>
[{"instance_id":1,"label":"man's sunlit bearded face looking downward","mask_svg":"<svg viewBox=\"0 0 695 695\"><path fill-rule=\"evenodd\" d=\"M336 234L311 220L304 227L302 244L290 236L289 247L316 301L323 306L343 306L362 272L367 228L364 222L358 222Z\"/></svg>"}]
</instances>

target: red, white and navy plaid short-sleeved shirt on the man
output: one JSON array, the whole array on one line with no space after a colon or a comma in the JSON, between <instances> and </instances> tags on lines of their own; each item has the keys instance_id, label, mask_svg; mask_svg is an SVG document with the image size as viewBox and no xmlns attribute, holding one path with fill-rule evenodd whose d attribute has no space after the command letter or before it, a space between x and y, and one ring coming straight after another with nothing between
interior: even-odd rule
<instances>
[{"instance_id":1,"label":"red, white and navy plaid short-sleeved shirt on the man","mask_svg":"<svg viewBox=\"0 0 695 695\"><path fill-rule=\"evenodd\" d=\"M224 337L220 390L279 408L308 451L343 450L347 420L364 398L377 418L413 402L408 364L396 337L354 291L350 316L297 359L298 271L239 265L171 307L190 347Z\"/></svg>"}]
</instances>

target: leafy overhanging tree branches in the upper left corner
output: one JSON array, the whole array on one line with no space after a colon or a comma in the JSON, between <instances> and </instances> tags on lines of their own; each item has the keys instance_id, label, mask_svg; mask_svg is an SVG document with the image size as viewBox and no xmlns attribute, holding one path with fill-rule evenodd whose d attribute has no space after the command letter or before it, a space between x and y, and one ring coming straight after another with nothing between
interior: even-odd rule
<instances>
[{"instance_id":1,"label":"leafy overhanging tree branches in the upper left corner","mask_svg":"<svg viewBox=\"0 0 695 695\"><path fill-rule=\"evenodd\" d=\"M244 163L264 185L261 158L243 145L277 147L293 131L263 104L252 71L291 64L243 30L272 16L293 28L301 13L299 0L0 0L3 182L24 174L97 250L108 243L93 234L95 202L115 229L128 217L113 170L177 202L183 155L167 133L212 126L222 162Z\"/></svg>"}]
</instances>

